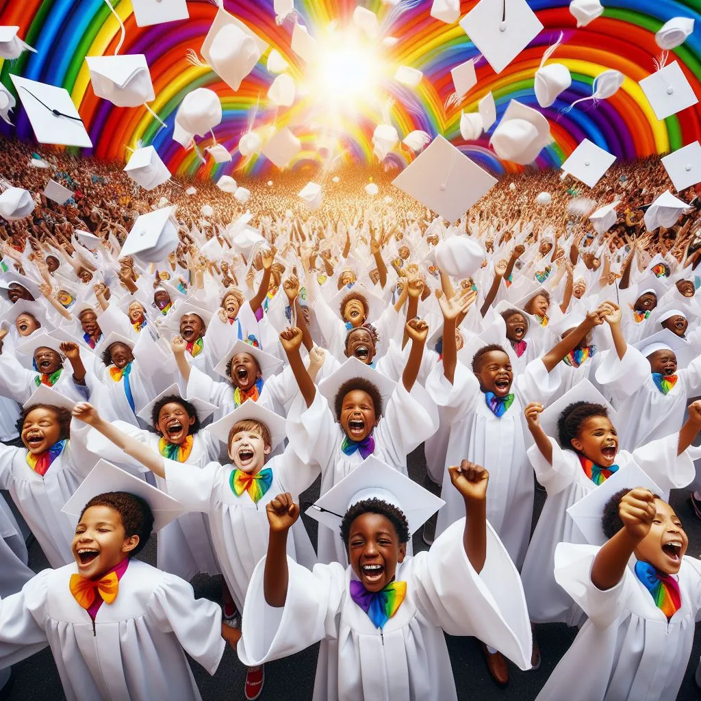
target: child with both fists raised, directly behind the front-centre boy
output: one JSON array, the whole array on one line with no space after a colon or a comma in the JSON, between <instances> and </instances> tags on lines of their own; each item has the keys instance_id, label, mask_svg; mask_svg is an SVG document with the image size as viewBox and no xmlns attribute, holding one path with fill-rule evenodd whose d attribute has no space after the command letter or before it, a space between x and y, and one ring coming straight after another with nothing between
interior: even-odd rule
<instances>
[{"instance_id":1,"label":"child with both fists raised, directly behind the front-centre boy","mask_svg":"<svg viewBox=\"0 0 701 701\"><path fill-rule=\"evenodd\" d=\"M412 346L401 382L393 383L355 358L348 358L321 383L323 391L316 388L299 355L300 329L290 327L280 334L306 404L301 411L290 411L287 437L304 463L321 470L321 494L369 455L407 474L407 455L435 432L435 404L426 390L415 384L428 325L411 320L407 333ZM319 533L318 554L320 562L346 562L342 544L328 531Z\"/></svg>"}]
</instances>

